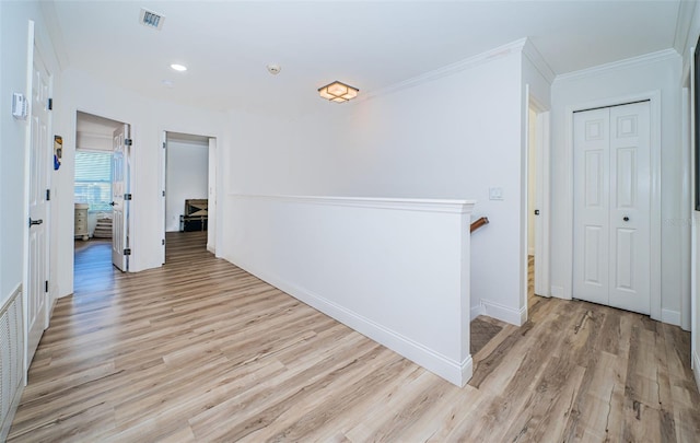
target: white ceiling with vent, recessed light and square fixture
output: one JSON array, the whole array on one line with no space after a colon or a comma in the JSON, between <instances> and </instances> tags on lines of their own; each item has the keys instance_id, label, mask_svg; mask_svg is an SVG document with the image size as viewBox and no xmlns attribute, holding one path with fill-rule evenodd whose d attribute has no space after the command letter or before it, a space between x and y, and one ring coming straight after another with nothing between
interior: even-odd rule
<instances>
[{"instance_id":1,"label":"white ceiling with vent, recessed light and square fixture","mask_svg":"<svg viewBox=\"0 0 700 443\"><path fill-rule=\"evenodd\" d=\"M165 16L162 31L139 23L141 7ZM280 113L327 109L316 89L332 80L376 92L523 37L557 74L678 47L681 7L678 0L43 4L63 68L190 106ZM189 69L175 72L173 62ZM268 63L281 72L269 74Z\"/></svg>"}]
</instances>

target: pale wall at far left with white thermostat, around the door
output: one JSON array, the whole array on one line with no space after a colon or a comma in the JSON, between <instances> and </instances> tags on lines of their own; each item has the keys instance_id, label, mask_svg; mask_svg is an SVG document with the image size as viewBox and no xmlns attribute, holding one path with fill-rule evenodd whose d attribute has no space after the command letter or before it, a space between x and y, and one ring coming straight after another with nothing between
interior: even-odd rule
<instances>
[{"instance_id":1,"label":"pale wall at far left with white thermostat, around the door","mask_svg":"<svg viewBox=\"0 0 700 443\"><path fill-rule=\"evenodd\" d=\"M23 238L26 234L26 200L22 191L25 182L25 148L27 120L14 119L10 103L12 93L23 93L31 100L27 85L27 30L28 21L35 22L35 38L47 68L54 74L55 125L60 125L60 75L58 61L48 37L37 2L0 2L0 305L22 283L23 265L26 263ZM30 48L31 49L31 48ZM56 132L54 132L56 133ZM51 172L51 179L56 176ZM51 206L51 211L55 205ZM51 240L56 225L49 226ZM51 254L52 256L52 254ZM51 263L55 263L51 260ZM50 269L49 291L55 294L55 269Z\"/></svg>"}]
</instances>

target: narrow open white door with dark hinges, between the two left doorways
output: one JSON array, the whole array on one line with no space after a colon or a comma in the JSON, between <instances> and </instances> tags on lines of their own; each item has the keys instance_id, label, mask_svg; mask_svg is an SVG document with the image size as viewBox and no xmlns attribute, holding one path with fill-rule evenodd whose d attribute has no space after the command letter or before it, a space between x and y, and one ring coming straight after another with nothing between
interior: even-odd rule
<instances>
[{"instance_id":1,"label":"narrow open white door with dark hinges, between the two left doorways","mask_svg":"<svg viewBox=\"0 0 700 443\"><path fill-rule=\"evenodd\" d=\"M129 125L114 131L112 155L112 263L121 271L129 270Z\"/></svg>"}]
</instances>

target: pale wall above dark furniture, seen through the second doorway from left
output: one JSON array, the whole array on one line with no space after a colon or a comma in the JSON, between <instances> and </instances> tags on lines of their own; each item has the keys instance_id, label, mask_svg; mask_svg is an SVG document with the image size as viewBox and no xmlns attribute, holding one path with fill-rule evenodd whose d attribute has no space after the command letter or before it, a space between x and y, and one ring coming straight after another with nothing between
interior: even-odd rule
<instances>
[{"instance_id":1,"label":"pale wall above dark furniture, seen through the second doorway from left","mask_svg":"<svg viewBox=\"0 0 700 443\"><path fill-rule=\"evenodd\" d=\"M185 200L208 198L209 140L167 140L165 174L165 231L179 231Z\"/></svg>"}]
</instances>

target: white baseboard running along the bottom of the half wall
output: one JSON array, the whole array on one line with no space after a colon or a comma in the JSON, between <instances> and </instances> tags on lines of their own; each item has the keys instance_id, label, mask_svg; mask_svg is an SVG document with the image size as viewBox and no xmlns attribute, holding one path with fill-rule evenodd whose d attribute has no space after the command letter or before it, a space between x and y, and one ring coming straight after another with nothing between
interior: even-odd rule
<instances>
[{"instance_id":1,"label":"white baseboard running along the bottom of the half wall","mask_svg":"<svg viewBox=\"0 0 700 443\"><path fill-rule=\"evenodd\" d=\"M305 288L284 281L271 273L255 269L255 267L248 266L241 260L234 260L231 257L225 257L225 259L372 340L386 346L408 360L445 378L450 383L463 387L469 378L471 378L474 372L471 355L468 355L462 362L451 360L408 337L331 302L319 294L315 294Z\"/></svg>"}]
</instances>

